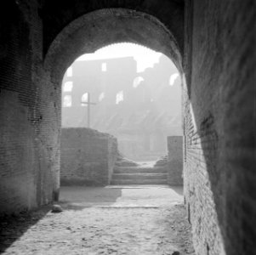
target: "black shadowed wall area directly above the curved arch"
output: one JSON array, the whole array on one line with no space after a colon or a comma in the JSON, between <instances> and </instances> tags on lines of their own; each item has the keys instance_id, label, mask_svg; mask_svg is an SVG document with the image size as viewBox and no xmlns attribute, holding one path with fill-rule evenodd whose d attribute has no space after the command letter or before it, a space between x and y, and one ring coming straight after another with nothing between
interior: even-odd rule
<instances>
[{"instance_id":1,"label":"black shadowed wall area directly above the curved arch","mask_svg":"<svg viewBox=\"0 0 256 255\"><path fill-rule=\"evenodd\" d=\"M83 14L109 8L133 9L156 17L172 31L179 47L183 48L184 0L43 0L38 9L43 19L43 54L67 24Z\"/></svg>"}]
</instances>

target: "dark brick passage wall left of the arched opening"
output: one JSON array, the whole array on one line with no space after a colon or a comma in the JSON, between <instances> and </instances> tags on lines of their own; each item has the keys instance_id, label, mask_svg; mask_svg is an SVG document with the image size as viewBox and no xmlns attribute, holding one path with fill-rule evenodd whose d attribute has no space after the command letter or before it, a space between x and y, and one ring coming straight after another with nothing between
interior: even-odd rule
<instances>
[{"instance_id":1,"label":"dark brick passage wall left of the arched opening","mask_svg":"<svg viewBox=\"0 0 256 255\"><path fill-rule=\"evenodd\" d=\"M42 70L37 8L37 1L0 7L0 215L48 203L58 193L60 90Z\"/></svg>"}]
</instances>

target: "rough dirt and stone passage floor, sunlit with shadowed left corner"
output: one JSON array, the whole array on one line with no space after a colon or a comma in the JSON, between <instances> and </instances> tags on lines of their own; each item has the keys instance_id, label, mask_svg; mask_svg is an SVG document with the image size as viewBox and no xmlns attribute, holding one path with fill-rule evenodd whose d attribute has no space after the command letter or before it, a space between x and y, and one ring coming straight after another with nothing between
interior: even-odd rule
<instances>
[{"instance_id":1,"label":"rough dirt and stone passage floor, sunlit with shadowed left corner","mask_svg":"<svg viewBox=\"0 0 256 255\"><path fill-rule=\"evenodd\" d=\"M182 188L64 187L63 212L5 218L3 254L195 254Z\"/></svg>"}]
</instances>

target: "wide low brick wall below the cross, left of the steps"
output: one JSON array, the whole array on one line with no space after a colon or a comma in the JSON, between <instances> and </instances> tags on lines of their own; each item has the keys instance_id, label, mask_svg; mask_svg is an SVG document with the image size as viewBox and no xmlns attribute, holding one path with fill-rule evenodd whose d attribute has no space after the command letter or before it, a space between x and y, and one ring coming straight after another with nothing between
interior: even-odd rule
<instances>
[{"instance_id":1,"label":"wide low brick wall below the cross, left of the steps","mask_svg":"<svg viewBox=\"0 0 256 255\"><path fill-rule=\"evenodd\" d=\"M106 185L117 159L117 139L94 129L62 128L60 184Z\"/></svg>"}]
</instances>

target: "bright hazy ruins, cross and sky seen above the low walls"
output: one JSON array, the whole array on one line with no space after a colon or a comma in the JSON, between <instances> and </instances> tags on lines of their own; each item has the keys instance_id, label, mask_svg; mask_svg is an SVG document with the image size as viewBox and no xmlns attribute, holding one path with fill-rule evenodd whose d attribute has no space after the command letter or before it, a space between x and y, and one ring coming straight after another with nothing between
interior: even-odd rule
<instances>
[{"instance_id":1,"label":"bright hazy ruins, cross and sky seen above the low walls","mask_svg":"<svg viewBox=\"0 0 256 255\"><path fill-rule=\"evenodd\" d=\"M117 137L134 161L167 154L167 138L181 135L179 71L162 53L117 43L84 54L67 69L62 127L90 127Z\"/></svg>"}]
</instances>

